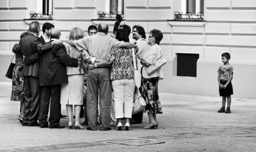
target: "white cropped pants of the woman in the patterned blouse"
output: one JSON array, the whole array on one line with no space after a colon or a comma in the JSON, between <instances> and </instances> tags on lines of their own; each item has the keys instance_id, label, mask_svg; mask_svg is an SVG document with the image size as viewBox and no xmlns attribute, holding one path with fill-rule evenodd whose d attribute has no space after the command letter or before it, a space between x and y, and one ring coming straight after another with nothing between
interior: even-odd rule
<instances>
[{"instance_id":1,"label":"white cropped pants of the woman in the patterned blouse","mask_svg":"<svg viewBox=\"0 0 256 152\"><path fill-rule=\"evenodd\" d=\"M133 79L121 79L112 81L115 100L116 118L132 117L133 93L135 83Z\"/></svg>"}]
</instances>

